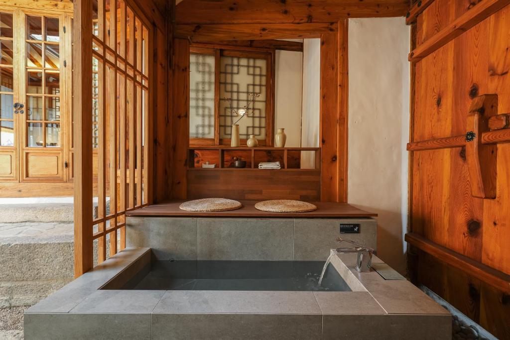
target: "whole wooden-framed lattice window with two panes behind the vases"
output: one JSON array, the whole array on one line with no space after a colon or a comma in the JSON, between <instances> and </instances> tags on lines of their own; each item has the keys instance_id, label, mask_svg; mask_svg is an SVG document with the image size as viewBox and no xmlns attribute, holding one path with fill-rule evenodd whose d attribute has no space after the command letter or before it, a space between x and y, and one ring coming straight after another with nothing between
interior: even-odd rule
<instances>
[{"instance_id":1,"label":"whole wooden-framed lattice window with two panes behind the vases","mask_svg":"<svg viewBox=\"0 0 510 340\"><path fill-rule=\"evenodd\" d=\"M190 144L228 145L231 140L230 105L239 111L250 93L260 97L253 115L243 118L240 137L244 143L255 135L261 145L271 145L274 122L274 51L223 49L207 44L190 48ZM250 110L251 113L251 110Z\"/></svg>"}]
</instances>

